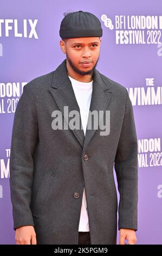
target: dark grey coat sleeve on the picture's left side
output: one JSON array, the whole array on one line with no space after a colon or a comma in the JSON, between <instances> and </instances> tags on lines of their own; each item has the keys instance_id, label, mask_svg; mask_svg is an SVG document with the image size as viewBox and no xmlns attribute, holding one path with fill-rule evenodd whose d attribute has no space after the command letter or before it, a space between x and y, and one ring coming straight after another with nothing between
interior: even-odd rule
<instances>
[{"instance_id":1,"label":"dark grey coat sleeve on the picture's left side","mask_svg":"<svg viewBox=\"0 0 162 256\"><path fill-rule=\"evenodd\" d=\"M17 103L10 151L10 191L14 229L34 225L30 210L33 182L33 155L38 139L34 96L30 83L24 86Z\"/></svg>"}]
</instances>

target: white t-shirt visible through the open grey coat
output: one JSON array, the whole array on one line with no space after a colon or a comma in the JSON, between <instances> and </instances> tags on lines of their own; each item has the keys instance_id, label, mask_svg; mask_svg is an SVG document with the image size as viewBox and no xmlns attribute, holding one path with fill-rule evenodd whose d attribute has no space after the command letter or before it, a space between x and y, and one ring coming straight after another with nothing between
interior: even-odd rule
<instances>
[{"instance_id":1,"label":"white t-shirt visible through the open grey coat","mask_svg":"<svg viewBox=\"0 0 162 256\"><path fill-rule=\"evenodd\" d=\"M93 81L88 83L80 82L70 76L69 76L69 79L72 82L76 101L80 108L81 122L83 126L83 131L86 135L89 107L90 107L90 101L92 97ZM82 232L89 231L88 210L87 210L85 188L83 190L79 231L82 231Z\"/></svg>"}]
</instances>

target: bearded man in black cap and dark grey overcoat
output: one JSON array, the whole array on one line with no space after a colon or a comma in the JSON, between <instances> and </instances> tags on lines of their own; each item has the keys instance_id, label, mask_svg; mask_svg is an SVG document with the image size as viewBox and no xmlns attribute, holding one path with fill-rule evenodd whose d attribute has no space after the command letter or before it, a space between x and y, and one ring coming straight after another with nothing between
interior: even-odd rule
<instances>
[{"instance_id":1,"label":"bearded man in black cap and dark grey overcoat","mask_svg":"<svg viewBox=\"0 0 162 256\"><path fill-rule=\"evenodd\" d=\"M137 135L131 101L125 87L95 68L102 36L95 15L67 14L60 36L67 58L30 81L16 108L10 156L16 243L115 244L113 167L120 244L135 243Z\"/></svg>"}]
</instances>

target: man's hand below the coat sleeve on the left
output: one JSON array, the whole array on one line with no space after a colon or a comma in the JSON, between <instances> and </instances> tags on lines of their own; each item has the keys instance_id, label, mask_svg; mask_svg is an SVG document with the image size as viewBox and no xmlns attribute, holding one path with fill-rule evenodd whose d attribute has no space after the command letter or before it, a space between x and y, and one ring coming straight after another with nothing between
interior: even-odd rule
<instances>
[{"instance_id":1,"label":"man's hand below the coat sleeve on the left","mask_svg":"<svg viewBox=\"0 0 162 256\"><path fill-rule=\"evenodd\" d=\"M16 245L36 245L36 234L33 226L23 226L16 229Z\"/></svg>"}]
</instances>

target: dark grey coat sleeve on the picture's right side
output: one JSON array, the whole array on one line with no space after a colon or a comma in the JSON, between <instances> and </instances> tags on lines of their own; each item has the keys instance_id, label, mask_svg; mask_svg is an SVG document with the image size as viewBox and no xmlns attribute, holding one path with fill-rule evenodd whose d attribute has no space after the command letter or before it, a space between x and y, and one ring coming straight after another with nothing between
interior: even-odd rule
<instances>
[{"instance_id":1,"label":"dark grey coat sleeve on the picture's right side","mask_svg":"<svg viewBox=\"0 0 162 256\"><path fill-rule=\"evenodd\" d=\"M128 92L114 168L120 193L118 229L137 231L138 143L133 107Z\"/></svg>"}]
</instances>

